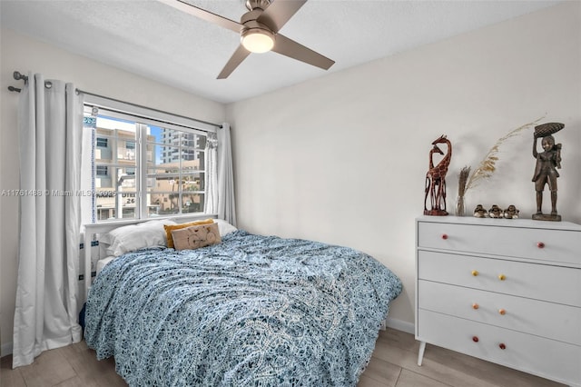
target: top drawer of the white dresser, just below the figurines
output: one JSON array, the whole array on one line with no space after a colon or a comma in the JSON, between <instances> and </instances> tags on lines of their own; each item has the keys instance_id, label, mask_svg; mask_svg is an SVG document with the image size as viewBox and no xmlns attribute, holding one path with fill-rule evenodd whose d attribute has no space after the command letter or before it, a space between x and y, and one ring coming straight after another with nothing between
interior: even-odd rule
<instances>
[{"instance_id":1,"label":"top drawer of the white dresser, just below the figurines","mask_svg":"<svg viewBox=\"0 0 581 387\"><path fill-rule=\"evenodd\" d=\"M492 221L507 226L419 222L418 246L581 264L578 231L512 227L506 219Z\"/></svg>"}]
</instances>

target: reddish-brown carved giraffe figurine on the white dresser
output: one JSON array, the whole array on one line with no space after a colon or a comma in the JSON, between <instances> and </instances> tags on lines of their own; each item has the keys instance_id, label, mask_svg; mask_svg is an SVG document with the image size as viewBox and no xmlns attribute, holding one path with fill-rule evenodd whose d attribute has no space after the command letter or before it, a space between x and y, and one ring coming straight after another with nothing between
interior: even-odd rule
<instances>
[{"instance_id":1,"label":"reddish-brown carved giraffe figurine on the white dresser","mask_svg":"<svg viewBox=\"0 0 581 387\"><path fill-rule=\"evenodd\" d=\"M448 150L440 162L434 166L434 154L444 154L439 149L438 144L448 145ZM426 174L426 193L424 197L424 214L425 215L448 215L446 211L446 174L448 174L448 165L452 158L452 144L442 134L434 142L432 149L429 151L429 169ZM428 209L428 195L430 197L430 208Z\"/></svg>"}]
</instances>

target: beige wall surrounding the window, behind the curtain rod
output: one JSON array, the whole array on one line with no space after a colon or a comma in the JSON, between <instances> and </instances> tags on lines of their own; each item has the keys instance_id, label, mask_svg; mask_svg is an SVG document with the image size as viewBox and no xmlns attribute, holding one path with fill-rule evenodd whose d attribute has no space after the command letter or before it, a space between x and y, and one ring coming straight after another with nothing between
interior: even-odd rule
<instances>
[{"instance_id":1,"label":"beige wall surrounding the window, behind the curtain rod","mask_svg":"<svg viewBox=\"0 0 581 387\"><path fill-rule=\"evenodd\" d=\"M181 90L158 84L138 75L103 65L83 56L72 55L51 45L44 45L23 35L2 29L0 63L0 189L17 189L18 132L16 106L18 94L8 85L21 87L13 71L42 73L46 78L73 82L78 88L111 96L135 104L203 121L221 123L225 108L219 104ZM0 202L0 342L2 352L10 351L16 289L16 252L18 246L18 200L1 197Z\"/></svg>"}]
</instances>

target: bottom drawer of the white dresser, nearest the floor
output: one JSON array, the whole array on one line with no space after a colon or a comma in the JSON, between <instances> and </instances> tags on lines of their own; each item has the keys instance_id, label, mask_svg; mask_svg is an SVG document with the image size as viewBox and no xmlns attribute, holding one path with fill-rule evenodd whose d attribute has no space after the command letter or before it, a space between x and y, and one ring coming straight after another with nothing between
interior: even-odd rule
<instances>
[{"instance_id":1,"label":"bottom drawer of the white dresser, nearest the floor","mask_svg":"<svg viewBox=\"0 0 581 387\"><path fill-rule=\"evenodd\" d=\"M558 382L581 385L581 347L419 310L417 339ZM478 340L478 341L477 341ZM501 349L504 344L505 349Z\"/></svg>"}]
</instances>

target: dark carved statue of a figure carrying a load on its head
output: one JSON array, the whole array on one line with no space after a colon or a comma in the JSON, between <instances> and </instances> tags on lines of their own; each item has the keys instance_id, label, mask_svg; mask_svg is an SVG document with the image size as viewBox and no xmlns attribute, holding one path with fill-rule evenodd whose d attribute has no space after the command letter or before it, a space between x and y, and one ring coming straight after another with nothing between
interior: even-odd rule
<instances>
[{"instance_id":1,"label":"dark carved statue of a figure carrying a load on its head","mask_svg":"<svg viewBox=\"0 0 581 387\"><path fill-rule=\"evenodd\" d=\"M537 192L537 213L533 214L533 219L539 221L556 221L561 220L561 215L556 213L556 178L559 173L556 168L561 168L561 144L555 144L555 137L552 134L560 131L565 127L560 123L548 123L535 126L533 140L533 157L537 159L533 182L535 182L535 191ZM537 152L538 139L542 137L541 146L543 152ZM551 213L543 213L543 190L547 184L551 193Z\"/></svg>"}]
</instances>

